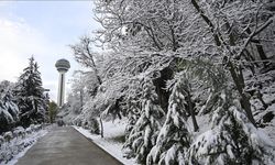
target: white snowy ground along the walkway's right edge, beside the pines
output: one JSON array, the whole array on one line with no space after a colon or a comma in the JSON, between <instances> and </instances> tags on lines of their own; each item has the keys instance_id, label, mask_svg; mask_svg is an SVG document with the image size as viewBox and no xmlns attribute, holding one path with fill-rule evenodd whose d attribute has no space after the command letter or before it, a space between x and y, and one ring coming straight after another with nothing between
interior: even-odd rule
<instances>
[{"instance_id":1,"label":"white snowy ground along the walkway's right edge, beside the pines","mask_svg":"<svg viewBox=\"0 0 275 165\"><path fill-rule=\"evenodd\" d=\"M122 153L122 145L124 141L124 130L127 122L123 120L114 120L103 122L105 138L100 135L91 134L89 130L85 130L79 127L74 127L78 132L88 139L91 139L98 146L111 154L125 165L134 165L134 158L125 158Z\"/></svg>"}]
</instances>

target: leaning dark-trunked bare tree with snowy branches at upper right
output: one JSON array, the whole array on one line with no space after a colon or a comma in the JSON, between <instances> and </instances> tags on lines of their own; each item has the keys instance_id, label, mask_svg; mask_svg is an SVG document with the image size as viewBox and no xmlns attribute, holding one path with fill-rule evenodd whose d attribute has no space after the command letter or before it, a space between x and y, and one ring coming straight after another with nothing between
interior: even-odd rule
<instances>
[{"instance_id":1,"label":"leaning dark-trunked bare tree with snowy branches at upper right","mask_svg":"<svg viewBox=\"0 0 275 165\"><path fill-rule=\"evenodd\" d=\"M207 50L206 53L210 55L219 54L217 59L219 63L223 63L224 68L230 73L241 97L242 110L256 127L250 96L245 92L246 84L243 72L244 68L248 68L245 64L251 66L254 63L248 46L255 40L258 42L260 34L273 23L274 13L264 8L266 1L191 0L191 4L198 12L199 21L208 26L204 30L205 34L200 36L202 41L208 43L204 44L205 50ZM256 45L261 44L257 43ZM260 52L260 57L262 56L261 58L264 59L263 53Z\"/></svg>"}]
</instances>

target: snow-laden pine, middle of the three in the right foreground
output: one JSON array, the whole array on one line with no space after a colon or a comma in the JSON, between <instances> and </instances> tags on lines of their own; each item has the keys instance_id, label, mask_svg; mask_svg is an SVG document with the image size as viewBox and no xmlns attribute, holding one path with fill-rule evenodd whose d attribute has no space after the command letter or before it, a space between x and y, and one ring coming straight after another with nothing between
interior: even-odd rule
<instances>
[{"instance_id":1,"label":"snow-laden pine, middle of the three in the right foreground","mask_svg":"<svg viewBox=\"0 0 275 165\"><path fill-rule=\"evenodd\" d=\"M184 164L185 153L190 145L185 105L185 85L182 78L174 82L169 97L166 121L151 150L146 164Z\"/></svg>"}]
</instances>

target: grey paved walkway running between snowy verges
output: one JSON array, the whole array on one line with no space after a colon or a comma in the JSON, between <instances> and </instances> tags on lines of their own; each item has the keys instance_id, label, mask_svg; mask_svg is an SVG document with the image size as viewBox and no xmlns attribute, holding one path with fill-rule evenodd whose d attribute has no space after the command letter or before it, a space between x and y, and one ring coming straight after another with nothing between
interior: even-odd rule
<instances>
[{"instance_id":1,"label":"grey paved walkway running between snowy verges","mask_svg":"<svg viewBox=\"0 0 275 165\"><path fill-rule=\"evenodd\" d=\"M72 127L53 128L16 165L121 165Z\"/></svg>"}]
</instances>

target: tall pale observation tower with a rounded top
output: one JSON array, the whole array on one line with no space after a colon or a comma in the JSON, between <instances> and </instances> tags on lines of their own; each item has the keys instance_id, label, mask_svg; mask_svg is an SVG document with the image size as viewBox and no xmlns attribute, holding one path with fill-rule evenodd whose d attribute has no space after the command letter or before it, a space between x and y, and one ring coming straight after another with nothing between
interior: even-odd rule
<instances>
[{"instance_id":1,"label":"tall pale observation tower with a rounded top","mask_svg":"<svg viewBox=\"0 0 275 165\"><path fill-rule=\"evenodd\" d=\"M57 106L62 107L64 103L64 97L65 97L65 74L70 68L70 65L67 59L62 58L55 63L55 67L57 72L59 73Z\"/></svg>"}]
</instances>

